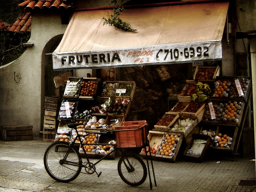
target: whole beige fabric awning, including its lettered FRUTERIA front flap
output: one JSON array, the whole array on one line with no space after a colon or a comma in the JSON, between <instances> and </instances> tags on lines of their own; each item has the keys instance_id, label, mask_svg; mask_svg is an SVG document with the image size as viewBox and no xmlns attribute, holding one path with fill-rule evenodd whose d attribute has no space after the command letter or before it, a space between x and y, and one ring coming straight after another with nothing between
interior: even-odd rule
<instances>
[{"instance_id":1,"label":"whole beige fabric awning, including its lettered FRUTERIA front flap","mask_svg":"<svg viewBox=\"0 0 256 192\"><path fill-rule=\"evenodd\" d=\"M112 10L74 12L53 68L104 68L172 64L222 58L228 2L132 8L121 13L136 32L103 25Z\"/></svg>"}]
</instances>

